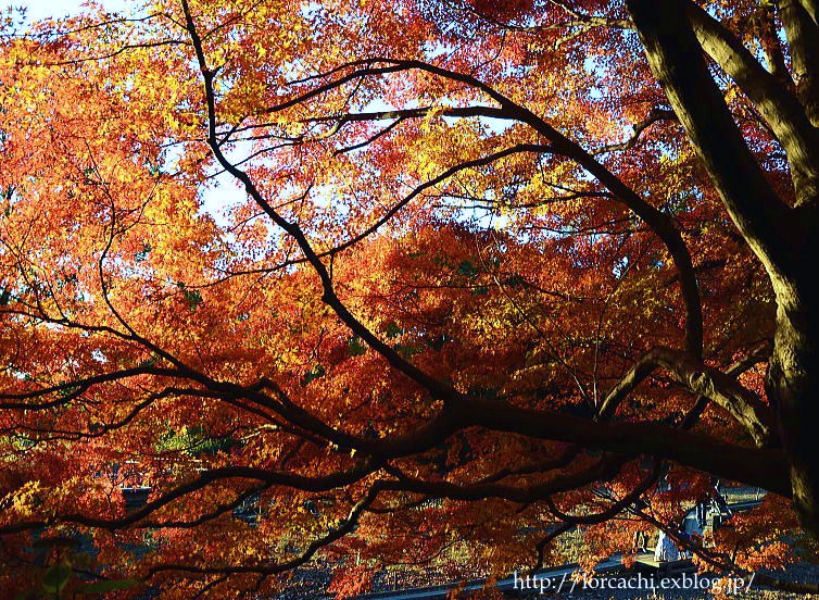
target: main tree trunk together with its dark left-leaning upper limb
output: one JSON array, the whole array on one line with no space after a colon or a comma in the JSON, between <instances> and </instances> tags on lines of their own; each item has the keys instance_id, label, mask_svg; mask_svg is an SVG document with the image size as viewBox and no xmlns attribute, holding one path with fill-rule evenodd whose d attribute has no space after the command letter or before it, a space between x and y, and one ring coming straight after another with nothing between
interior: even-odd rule
<instances>
[{"instance_id":1,"label":"main tree trunk together with its dark left-leaning upper limb","mask_svg":"<svg viewBox=\"0 0 819 600\"><path fill-rule=\"evenodd\" d=\"M817 259L814 232L819 224L816 191L812 188L797 190L802 191L802 201L792 209L766 180L703 60L703 46L694 33L697 27L703 41L713 46L708 47L716 55L720 57L726 48L731 50L724 40L711 43L716 36L706 32L707 20L692 25L691 13L680 1L627 0L627 5L652 71L702 157L734 224L771 279L778 312L767 378L768 399L777 408L799 523L819 538L819 436L816 430L819 423L819 399L816 398L819 392L819 314L816 310L819 292L812 275ZM816 23L796 0L783 0L780 7L789 30L796 71L794 79L801 88L808 118L816 123L812 110L817 97L814 76L819 64L819 60L814 59ZM730 61L726 64L730 66ZM741 65L734 66L731 70L742 79ZM759 95L757 100L769 96ZM792 104L791 109L795 110ZM806 164L806 172L816 172L815 158L805 153L802 159L811 163ZM805 178L799 182L804 185Z\"/></svg>"}]
</instances>

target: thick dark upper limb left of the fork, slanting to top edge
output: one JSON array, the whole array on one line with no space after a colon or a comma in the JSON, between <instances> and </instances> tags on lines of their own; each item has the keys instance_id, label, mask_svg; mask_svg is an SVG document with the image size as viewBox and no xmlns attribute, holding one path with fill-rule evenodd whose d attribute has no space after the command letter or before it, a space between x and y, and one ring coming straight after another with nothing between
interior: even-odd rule
<instances>
[{"instance_id":1,"label":"thick dark upper limb left of the fork, slanting to top edge","mask_svg":"<svg viewBox=\"0 0 819 600\"><path fill-rule=\"evenodd\" d=\"M736 127L702 55L686 0L659 4L628 0L627 5L648 64L703 158L729 214L763 261L774 288L781 288L788 273L798 264L793 240L804 241L806 232L776 195Z\"/></svg>"}]
</instances>

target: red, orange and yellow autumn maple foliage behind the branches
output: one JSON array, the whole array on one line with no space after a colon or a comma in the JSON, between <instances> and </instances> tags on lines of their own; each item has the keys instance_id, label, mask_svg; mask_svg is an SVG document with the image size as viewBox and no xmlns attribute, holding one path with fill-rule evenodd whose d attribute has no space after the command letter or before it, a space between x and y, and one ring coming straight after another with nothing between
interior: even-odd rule
<instances>
[{"instance_id":1,"label":"red, orange and yellow autumn maple foliage behind the branches","mask_svg":"<svg viewBox=\"0 0 819 600\"><path fill-rule=\"evenodd\" d=\"M149 575L167 598L209 585L214 598L270 591L288 580L220 582L214 572L180 583L179 574L263 571L299 557L343 526L368 486L396 473L464 485L497 474L530 486L598 458L578 452L541 470L566 445L467 428L352 485L308 492L269 483L270 474L343 472L366 458L344 436L403 439L443 404L342 323L328 285L393 363L408 361L467 401L589 417L643 352L679 346L679 274L645 223L531 127L478 114L499 108L486 87L385 59L434 63L500 90L667 215L693 255L709 365L742 359L770 334L769 285L679 124L659 120L628 151L612 147L665 107L632 33L562 24L572 15L560 3L434 4L191 1L203 65L181 3L169 0L137 12L143 18L94 13L63 23L63 35L35 25L3 42L0 383L17 404L0 414L0 527L88 536L86 566L109 582L86 591L125 591ZM581 4L623 16L617 3ZM738 24L751 18L746 8L755 14L741 7ZM754 150L776 150L727 89ZM520 145L539 146L475 163ZM236 179L237 167L248 180ZM783 165L768 168L784 188ZM760 397L763 372L741 377ZM693 402L658 377L618 417L677 423ZM741 435L714 405L697 427ZM123 488L150 488L156 501L231 468L244 471L179 492L144 514L144 527L52 525L65 515L127 520ZM554 501L605 510L642 475L632 462L606 484L609 497L581 485ZM670 523L706 482L688 471L669 479L676 487L651 508ZM317 553L339 596L400 563L411 563L402 573L431 564L451 577L528 566L555 522L539 502L411 492L379 502ZM788 518L786 507L766 503L715 543L739 549L743 567L777 566ZM635 517L594 525L572 538L580 551L544 555L591 566L646 528ZM27 536L8 537L20 564ZM49 552L48 589L74 591L64 557ZM28 566L28 580L42 575ZM0 580L2 591L17 585Z\"/></svg>"}]
</instances>

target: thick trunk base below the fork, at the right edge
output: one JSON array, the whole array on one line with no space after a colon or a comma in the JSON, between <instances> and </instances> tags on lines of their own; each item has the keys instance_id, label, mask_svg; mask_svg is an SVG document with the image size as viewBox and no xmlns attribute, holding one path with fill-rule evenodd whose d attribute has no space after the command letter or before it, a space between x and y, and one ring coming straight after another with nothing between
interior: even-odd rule
<instances>
[{"instance_id":1,"label":"thick trunk base below the fork, at the right edge","mask_svg":"<svg viewBox=\"0 0 819 600\"><path fill-rule=\"evenodd\" d=\"M806 270L814 261L805 258ZM806 274L804 286L817 287ZM819 537L819 292L779 295L768 396L779 412L794 508Z\"/></svg>"}]
</instances>

